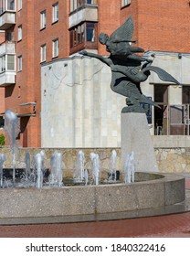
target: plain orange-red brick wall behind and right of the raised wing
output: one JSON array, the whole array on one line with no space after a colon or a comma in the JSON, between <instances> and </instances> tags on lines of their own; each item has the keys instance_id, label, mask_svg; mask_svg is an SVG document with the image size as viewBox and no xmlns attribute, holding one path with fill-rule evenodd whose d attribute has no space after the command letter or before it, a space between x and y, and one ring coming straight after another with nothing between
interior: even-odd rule
<instances>
[{"instance_id":1,"label":"plain orange-red brick wall behind and right of the raised wing","mask_svg":"<svg viewBox=\"0 0 190 256\"><path fill-rule=\"evenodd\" d=\"M145 50L190 52L189 13L186 0L132 0L121 9L121 21L132 16L134 37Z\"/></svg>"}]
</instances>

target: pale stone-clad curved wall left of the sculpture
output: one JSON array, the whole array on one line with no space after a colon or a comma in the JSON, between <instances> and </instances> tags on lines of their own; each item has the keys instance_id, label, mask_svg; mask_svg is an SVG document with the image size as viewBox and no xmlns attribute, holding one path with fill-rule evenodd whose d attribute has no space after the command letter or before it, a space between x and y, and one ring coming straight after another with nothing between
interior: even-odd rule
<instances>
[{"instance_id":1,"label":"pale stone-clad curved wall left of the sculpture","mask_svg":"<svg viewBox=\"0 0 190 256\"><path fill-rule=\"evenodd\" d=\"M74 58L42 68L42 147L118 147L125 98L111 91L111 70Z\"/></svg>"}]
</instances>

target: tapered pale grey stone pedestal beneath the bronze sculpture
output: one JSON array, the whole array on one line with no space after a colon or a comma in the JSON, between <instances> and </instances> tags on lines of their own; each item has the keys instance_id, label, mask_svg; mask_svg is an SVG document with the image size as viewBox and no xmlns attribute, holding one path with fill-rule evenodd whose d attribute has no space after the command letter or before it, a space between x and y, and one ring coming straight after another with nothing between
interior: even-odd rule
<instances>
[{"instance_id":1,"label":"tapered pale grey stone pedestal beneath the bronze sculpture","mask_svg":"<svg viewBox=\"0 0 190 256\"><path fill-rule=\"evenodd\" d=\"M121 112L121 168L134 152L136 172L158 172L145 113Z\"/></svg>"}]
</instances>

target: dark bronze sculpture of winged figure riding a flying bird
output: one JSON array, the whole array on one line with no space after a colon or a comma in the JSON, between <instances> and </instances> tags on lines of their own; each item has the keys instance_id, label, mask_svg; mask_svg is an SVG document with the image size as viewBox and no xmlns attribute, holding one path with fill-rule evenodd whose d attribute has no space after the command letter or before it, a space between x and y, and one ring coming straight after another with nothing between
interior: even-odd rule
<instances>
[{"instance_id":1,"label":"dark bronze sculpture of winged figure riding a flying bird","mask_svg":"<svg viewBox=\"0 0 190 256\"><path fill-rule=\"evenodd\" d=\"M164 81L179 84L169 73L158 67L153 67L152 60L146 59L135 53L144 52L142 48L133 47L132 40L133 22L132 17L116 29L111 36L101 33L99 41L106 46L110 57L103 57L85 50L79 53L91 58L100 59L111 68L111 90L126 97L127 107L122 112L144 112L141 102L159 107L152 100L142 94L140 83L148 79L150 71L157 73Z\"/></svg>"}]
</instances>

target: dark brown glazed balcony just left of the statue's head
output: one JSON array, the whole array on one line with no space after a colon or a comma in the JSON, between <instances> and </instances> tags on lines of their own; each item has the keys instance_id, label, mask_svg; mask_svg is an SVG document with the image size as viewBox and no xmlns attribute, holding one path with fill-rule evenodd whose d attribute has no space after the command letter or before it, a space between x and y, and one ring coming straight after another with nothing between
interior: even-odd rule
<instances>
[{"instance_id":1,"label":"dark brown glazed balcony just left of the statue's head","mask_svg":"<svg viewBox=\"0 0 190 256\"><path fill-rule=\"evenodd\" d=\"M78 47L78 48L76 48ZM85 22L70 30L70 48L97 48L97 23ZM71 50L72 52L72 50Z\"/></svg>"}]
</instances>

